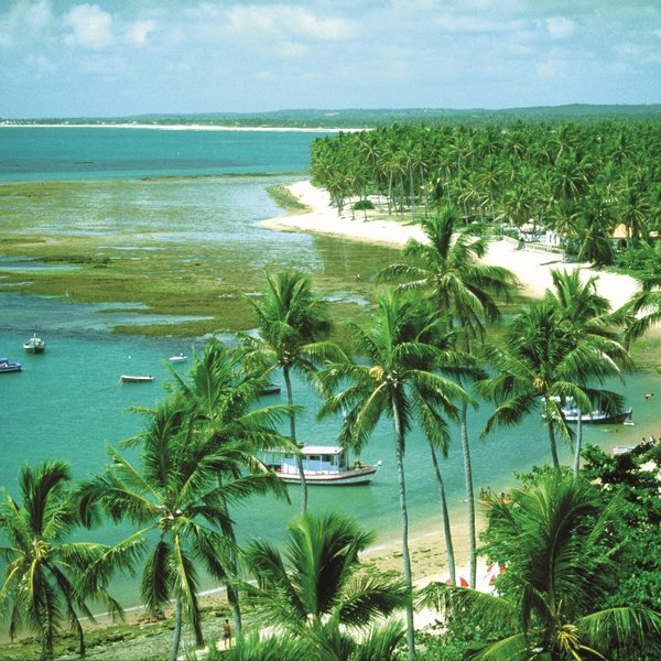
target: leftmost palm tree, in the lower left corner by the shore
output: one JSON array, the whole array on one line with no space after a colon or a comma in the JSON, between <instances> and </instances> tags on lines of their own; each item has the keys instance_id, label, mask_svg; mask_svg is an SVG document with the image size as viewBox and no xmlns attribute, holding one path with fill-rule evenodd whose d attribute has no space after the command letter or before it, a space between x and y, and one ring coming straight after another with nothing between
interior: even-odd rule
<instances>
[{"instance_id":1,"label":"leftmost palm tree, in the lower left corner by the shore","mask_svg":"<svg viewBox=\"0 0 661 661\"><path fill-rule=\"evenodd\" d=\"M0 607L9 615L9 633L28 626L41 638L41 659L53 659L54 638L63 621L78 637L85 655L80 616L94 621L86 597L102 599L108 610L121 616L121 607L102 583L85 589L79 576L100 556L104 546L66 541L78 524L71 470L59 460L36 468L23 466L19 475L22 502L4 490L0 501L0 530L9 543L0 549L7 563L0 589Z\"/></svg>"}]
</instances>

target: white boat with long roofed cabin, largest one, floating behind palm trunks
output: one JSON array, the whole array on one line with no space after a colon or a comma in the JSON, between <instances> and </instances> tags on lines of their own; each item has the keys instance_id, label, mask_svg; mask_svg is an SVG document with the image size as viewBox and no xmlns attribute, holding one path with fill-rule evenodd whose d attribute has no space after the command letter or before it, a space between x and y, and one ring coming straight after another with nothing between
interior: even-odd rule
<instances>
[{"instance_id":1,"label":"white boat with long roofed cabin, largest one, floating behind palm trunks","mask_svg":"<svg viewBox=\"0 0 661 661\"><path fill-rule=\"evenodd\" d=\"M264 464L288 484L301 484L301 475L293 453L266 453ZM362 465L360 459L349 464L348 452L335 445L304 445L301 448L303 474L308 485L349 486L368 485L381 467L381 462ZM262 457L264 458L264 457Z\"/></svg>"}]
</instances>

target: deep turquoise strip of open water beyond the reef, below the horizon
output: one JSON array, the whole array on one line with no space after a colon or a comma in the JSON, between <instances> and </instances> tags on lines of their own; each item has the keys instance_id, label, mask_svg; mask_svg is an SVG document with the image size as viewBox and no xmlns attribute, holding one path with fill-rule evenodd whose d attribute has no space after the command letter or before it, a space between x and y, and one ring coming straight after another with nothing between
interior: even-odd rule
<instances>
[{"instance_id":1,"label":"deep turquoise strip of open water beyond the reef, below the horizon","mask_svg":"<svg viewBox=\"0 0 661 661\"><path fill-rule=\"evenodd\" d=\"M0 127L0 181L304 172L323 132Z\"/></svg>"}]
</instances>

